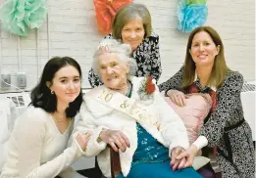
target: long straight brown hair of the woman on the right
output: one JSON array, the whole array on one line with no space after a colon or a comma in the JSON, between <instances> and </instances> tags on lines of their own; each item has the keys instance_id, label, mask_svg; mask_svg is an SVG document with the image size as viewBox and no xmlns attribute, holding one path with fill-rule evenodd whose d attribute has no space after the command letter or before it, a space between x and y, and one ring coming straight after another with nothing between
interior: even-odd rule
<instances>
[{"instance_id":1,"label":"long straight brown hair of the woman on the right","mask_svg":"<svg viewBox=\"0 0 256 178\"><path fill-rule=\"evenodd\" d=\"M225 61L224 45L218 32L210 26L199 26L195 28L188 37L181 88L187 88L194 81L195 63L189 53L189 50L191 49L194 35L201 31L207 32L213 39L215 45L220 46L219 54L215 57L212 73L207 84L220 88L226 79L227 72L230 70Z\"/></svg>"}]
</instances>

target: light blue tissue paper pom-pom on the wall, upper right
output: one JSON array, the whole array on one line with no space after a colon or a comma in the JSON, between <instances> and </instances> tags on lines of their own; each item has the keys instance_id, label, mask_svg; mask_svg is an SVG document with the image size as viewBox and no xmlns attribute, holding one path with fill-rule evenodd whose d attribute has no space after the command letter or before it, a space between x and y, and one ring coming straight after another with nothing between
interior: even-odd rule
<instances>
[{"instance_id":1,"label":"light blue tissue paper pom-pom on the wall, upper right","mask_svg":"<svg viewBox=\"0 0 256 178\"><path fill-rule=\"evenodd\" d=\"M203 25L208 16L208 8L205 4L179 4L178 29L183 32L191 32L194 28Z\"/></svg>"}]
</instances>

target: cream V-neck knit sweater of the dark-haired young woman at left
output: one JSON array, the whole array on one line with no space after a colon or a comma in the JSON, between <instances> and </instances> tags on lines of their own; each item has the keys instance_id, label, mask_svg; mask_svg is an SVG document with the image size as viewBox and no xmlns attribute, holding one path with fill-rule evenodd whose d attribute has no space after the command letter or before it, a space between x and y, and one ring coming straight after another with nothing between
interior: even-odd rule
<instances>
[{"instance_id":1,"label":"cream V-neck knit sweater of the dark-haired young woman at left","mask_svg":"<svg viewBox=\"0 0 256 178\"><path fill-rule=\"evenodd\" d=\"M77 144L67 149L73 125L62 134L51 114L29 107L15 123L0 178L71 178L69 166L81 156Z\"/></svg>"}]
</instances>

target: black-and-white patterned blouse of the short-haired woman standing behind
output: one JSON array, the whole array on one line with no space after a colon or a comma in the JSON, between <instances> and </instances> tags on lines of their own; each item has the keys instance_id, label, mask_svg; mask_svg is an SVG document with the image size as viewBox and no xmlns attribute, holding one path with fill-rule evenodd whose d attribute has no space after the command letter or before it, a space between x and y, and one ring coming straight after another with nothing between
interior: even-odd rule
<instances>
[{"instance_id":1,"label":"black-and-white patterned blouse of the short-haired woman standing behind","mask_svg":"<svg viewBox=\"0 0 256 178\"><path fill-rule=\"evenodd\" d=\"M104 39L113 39L113 36L109 34ZM131 56L137 64L135 76L151 75L158 81L162 73L162 67L159 54L159 36L157 34L152 33L149 37L143 39ZM92 88L103 84L99 76L94 73L93 68L89 70L88 80Z\"/></svg>"}]
</instances>

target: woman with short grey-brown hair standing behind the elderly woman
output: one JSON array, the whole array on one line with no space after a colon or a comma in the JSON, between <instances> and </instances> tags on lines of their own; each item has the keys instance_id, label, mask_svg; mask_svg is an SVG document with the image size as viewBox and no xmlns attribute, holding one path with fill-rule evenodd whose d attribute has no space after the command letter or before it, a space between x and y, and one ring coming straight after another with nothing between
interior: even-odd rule
<instances>
[{"instance_id":1,"label":"woman with short grey-brown hair standing behind the elderly woman","mask_svg":"<svg viewBox=\"0 0 256 178\"><path fill-rule=\"evenodd\" d=\"M130 45L131 57L137 64L136 76L151 75L156 81L160 78L159 36L152 33L151 16L144 5L122 7L112 23L112 34L104 38L114 38ZM93 88L103 84L93 68L89 70L88 80Z\"/></svg>"}]
</instances>

